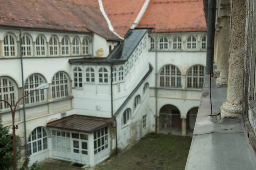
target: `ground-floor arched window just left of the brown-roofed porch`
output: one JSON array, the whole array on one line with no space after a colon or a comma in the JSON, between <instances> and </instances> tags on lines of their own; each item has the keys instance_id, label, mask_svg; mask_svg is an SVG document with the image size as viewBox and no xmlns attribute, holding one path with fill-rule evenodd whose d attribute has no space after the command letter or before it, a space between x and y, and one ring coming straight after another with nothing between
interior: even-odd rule
<instances>
[{"instance_id":1,"label":"ground-floor arched window just left of the brown-roofed porch","mask_svg":"<svg viewBox=\"0 0 256 170\"><path fill-rule=\"evenodd\" d=\"M39 134L39 130L40 129L40 133L41 133L41 137L38 137L38 134ZM36 139L32 139L33 138L33 132L35 131L35 136L36 136ZM41 150L39 151L39 141L41 143ZM46 141L46 147L45 147L45 141ZM34 146L33 144L36 143L36 151L34 151ZM28 155L34 155L35 153L40 153L44 150L47 150L48 149L48 134L47 134L47 131L42 128L42 127L37 127L35 128L29 135L28 137ZM31 151L31 152L30 152Z\"/></svg>"}]
</instances>

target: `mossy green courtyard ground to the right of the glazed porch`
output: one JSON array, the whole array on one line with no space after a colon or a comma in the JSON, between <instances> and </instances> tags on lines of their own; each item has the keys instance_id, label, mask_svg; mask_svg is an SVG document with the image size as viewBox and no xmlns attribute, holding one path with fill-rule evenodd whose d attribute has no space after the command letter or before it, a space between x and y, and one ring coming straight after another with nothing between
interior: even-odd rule
<instances>
[{"instance_id":1,"label":"mossy green courtyard ground to the right of the glazed porch","mask_svg":"<svg viewBox=\"0 0 256 170\"><path fill-rule=\"evenodd\" d=\"M171 134L148 134L95 170L184 170L192 138Z\"/></svg>"}]
</instances>

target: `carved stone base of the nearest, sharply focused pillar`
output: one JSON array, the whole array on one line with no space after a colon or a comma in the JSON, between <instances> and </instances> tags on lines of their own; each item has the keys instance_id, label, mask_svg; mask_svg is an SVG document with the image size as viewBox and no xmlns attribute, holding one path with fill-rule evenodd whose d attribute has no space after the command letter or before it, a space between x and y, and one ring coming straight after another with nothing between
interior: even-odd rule
<instances>
[{"instance_id":1,"label":"carved stone base of the nearest, sharply focused pillar","mask_svg":"<svg viewBox=\"0 0 256 170\"><path fill-rule=\"evenodd\" d=\"M242 106L237 106L234 104L230 104L227 101L225 101L222 106L220 107L220 117L226 118L226 117L236 117L241 116L243 112Z\"/></svg>"}]
</instances>

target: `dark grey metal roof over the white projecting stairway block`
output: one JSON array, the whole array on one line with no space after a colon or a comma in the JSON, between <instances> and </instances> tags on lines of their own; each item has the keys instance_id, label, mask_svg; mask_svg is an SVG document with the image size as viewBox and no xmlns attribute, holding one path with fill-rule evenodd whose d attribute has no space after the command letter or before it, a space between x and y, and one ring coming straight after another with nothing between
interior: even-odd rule
<instances>
[{"instance_id":1,"label":"dark grey metal roof over the white projecting stairway block","mask_svg":"<svg viewBox=\"0 0 256 170\"><path fill-rule=\"evenodd\" d=\"M129 30L124 37L124 41L120 42L107 58L78 58L70 59L68 62L72 64L82 63L124 63L131 56L132 52L138 46L140 40L147 33L147 29Z\"/></svg>"}]
</instances>

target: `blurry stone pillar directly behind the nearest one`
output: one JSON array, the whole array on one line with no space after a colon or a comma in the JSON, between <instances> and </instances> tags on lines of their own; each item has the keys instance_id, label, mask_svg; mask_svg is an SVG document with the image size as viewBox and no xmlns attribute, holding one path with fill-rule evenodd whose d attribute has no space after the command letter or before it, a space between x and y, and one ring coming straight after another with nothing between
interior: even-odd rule
<instances>
[{"instance_id":1,"label":"blurry stone pillar directly behind the nearest one","mask_svg":"<svg viewBox=\"0 0 256 170\"><path fill-rule=\"evenodd\" d=\"M229 37L230 37L230 3L229 0L220 1L221 11L221 25L222 29L219 32L220 43L220 77L216 79L217 87L220 85L228 84L228 49L229 49Z\"/></svg>"}]
</instances>

